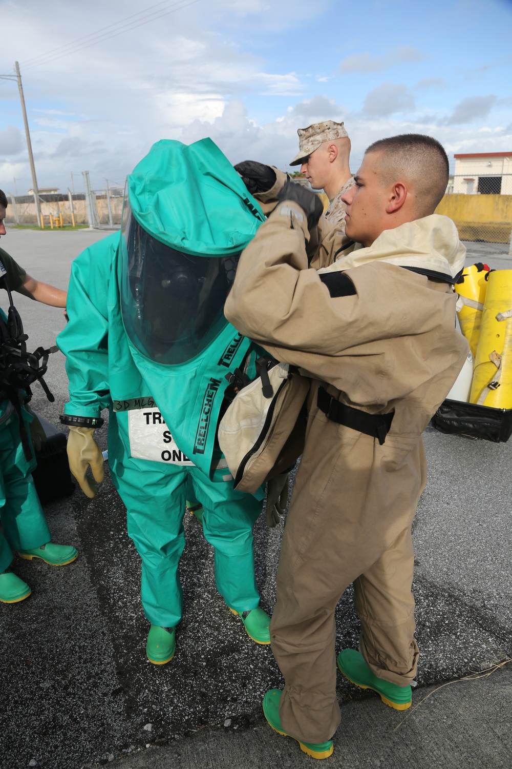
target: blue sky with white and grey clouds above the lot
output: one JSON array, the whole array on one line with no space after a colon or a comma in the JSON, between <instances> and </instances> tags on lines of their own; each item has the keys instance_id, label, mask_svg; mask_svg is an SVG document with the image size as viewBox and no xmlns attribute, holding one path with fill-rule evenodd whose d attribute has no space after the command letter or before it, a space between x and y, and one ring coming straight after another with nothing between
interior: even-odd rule
<instances>
[{"instance_id":1,"label":"blue sky with white and grey clouds above the lot","mask_svg":"<svg viewBox=\"0 0 512 769\"><path fill-rule=\"evenodd\" d=\"M123 184L160 138L210 136L286 168L297 128L343 120L352 171L377 138L512 151L512 0L0 0L39 187ZM15 81L0 79L0 188L31 187ZM15 181L14 181L15 180Z\"/></svg>"}]
</instances>

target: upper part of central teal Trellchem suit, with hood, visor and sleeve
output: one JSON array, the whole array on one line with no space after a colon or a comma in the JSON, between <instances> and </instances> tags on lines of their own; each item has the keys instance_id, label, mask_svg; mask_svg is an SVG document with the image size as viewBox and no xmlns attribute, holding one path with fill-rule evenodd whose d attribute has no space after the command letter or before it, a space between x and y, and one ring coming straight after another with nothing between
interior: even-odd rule
<instances>
[{"instance_id":1,"label":"upper part of central teal Trellchem suit, with hood, visor and sleeve","mask_svg":"<svg viewBox=\"0 0 512 769\"><path fill-rule=\"evenodd\" d=\"M87 305L90 322L70 322L58 337L70 380L64 411L127 411L133 457L176 456L212 478L225 376L251 344L226 321L223 301L264 218L209 138L157 142L127 177L121 237L74 261L68 314L83 317ZM151 404L179 451L161 445L161 430L140 437Z\"/></svg>"}]
</instances>

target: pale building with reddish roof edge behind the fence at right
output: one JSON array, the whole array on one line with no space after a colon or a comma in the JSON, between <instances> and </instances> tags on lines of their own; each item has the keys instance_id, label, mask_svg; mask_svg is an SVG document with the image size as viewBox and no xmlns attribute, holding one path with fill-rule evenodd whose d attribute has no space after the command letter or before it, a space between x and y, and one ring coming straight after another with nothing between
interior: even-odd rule
<instances>
[{"instance_id":1,"label":"pale building with reddish roof edge behind the fence at right","mask_svg":"<svg viewBox=\"0 0 512 769\"><path fill-rule=\"evenodd\" d=\"M454 155L454 193L512 195L512 151Z\"/></svg>"}]
</instances>

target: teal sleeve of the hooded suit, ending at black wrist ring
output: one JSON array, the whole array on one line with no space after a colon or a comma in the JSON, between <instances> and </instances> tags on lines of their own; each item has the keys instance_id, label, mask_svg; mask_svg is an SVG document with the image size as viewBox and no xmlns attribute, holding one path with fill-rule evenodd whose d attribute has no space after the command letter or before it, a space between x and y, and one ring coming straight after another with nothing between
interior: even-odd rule
<instances>
[{"instance_id":1,"label":"teal sleeve of the hooded suit, ending at black wrist ring","mask_svg":"<svg viewBox=\"0 0 512 769\"><path fill-rule=\"evenodd\" d=\"M111 404L107 298L120 237L116 232L86 248L71 267L69 322L57 338L69 379L65 414L97 417Z\"/></svg>"}]
</instances>

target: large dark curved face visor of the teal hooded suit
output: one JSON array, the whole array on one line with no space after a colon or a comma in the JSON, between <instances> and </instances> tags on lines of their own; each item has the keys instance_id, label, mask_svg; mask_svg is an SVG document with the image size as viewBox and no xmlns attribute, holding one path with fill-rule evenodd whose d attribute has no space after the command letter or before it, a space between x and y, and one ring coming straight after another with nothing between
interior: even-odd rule
<instances>
[{"instance_id":1,"label":"large dark curved face visor of the teal hooded suit","mask_svg":"<svg viewBox=\"0 0 512 769\"><path fill-rule=\"evenodd\" d=\"M195 256L165 245L138 223L127 195L121 247L121 311L132 344L167 365L200 355L227 324L239 254Z\"/></svg>"}]
</instances>

